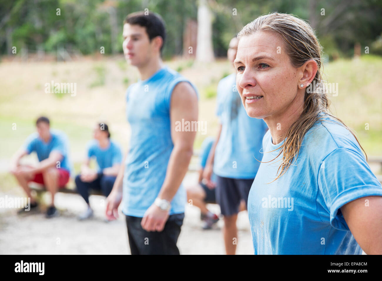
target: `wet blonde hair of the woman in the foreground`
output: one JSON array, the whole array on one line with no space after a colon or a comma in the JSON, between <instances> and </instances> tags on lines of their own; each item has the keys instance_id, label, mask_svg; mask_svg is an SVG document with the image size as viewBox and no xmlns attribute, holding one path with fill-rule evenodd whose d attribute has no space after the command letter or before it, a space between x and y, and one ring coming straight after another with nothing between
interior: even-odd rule
<instances>
[{"instance_id":1,"label":"wet blonde hair of the woman in the foreground","mask_svg":"<svg viewBox=\"0 0 382 281\"><path fill-rule=\"evenodd\" d=\"M238 39L240 40L241 37L249 36L257 31L277 32L285 43L286 52L289 55L290 61L294 67L301 67L301 65L303 65L308 60L315 60L318 66L316 76L312 81L312 84L315 81L317 87L313 89L313 91L308 91L308 87L305 89L303 113L286 132L280 153L278 153L276 156L277 158L280 156L280 154L283 153L282 162L277 170L278 176L274 180L277 180L279 177L285 174L293 159L297 159L299 148L305 133L308 132L314 123L324 118L319 116L321 112L330 115L335 120L338 120L340 125L343 125L349 130L349 132L351 132L359 144L357 137L354 135L351 129L346 126L342 120L333 116L329 109L330 101L326 95L325 87L322 87L321 84L323 81L321 80L322 47L318 42L316 34L311 26L302 19L299 19L293 15L270 13L268 15L259 16L257 19L244 26L238 34ZM360 144L359 146L362 148ZM364 151L363 148L362 150Z\"/></svg>"}]
</instances>

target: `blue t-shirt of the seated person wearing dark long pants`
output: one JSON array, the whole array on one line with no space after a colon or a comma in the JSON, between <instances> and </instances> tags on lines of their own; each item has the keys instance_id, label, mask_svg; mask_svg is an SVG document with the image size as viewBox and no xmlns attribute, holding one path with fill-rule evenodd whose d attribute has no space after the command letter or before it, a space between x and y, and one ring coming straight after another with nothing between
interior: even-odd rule
<instances>
[{"instance_id":1,"label":"blue t-shirt of the seated person wearing dark long pants","mask_svg":"<svg viewBox=\"0 0 382 281\"><path fill-rule=\"evenodd\" d=\"M121 164L122 154L120 146L109 140L107 148L101 148L97 140L89 141L87 145L87 157L95 157L98 171L112 167L114 164Z\"/></svg>"}]
</instances>

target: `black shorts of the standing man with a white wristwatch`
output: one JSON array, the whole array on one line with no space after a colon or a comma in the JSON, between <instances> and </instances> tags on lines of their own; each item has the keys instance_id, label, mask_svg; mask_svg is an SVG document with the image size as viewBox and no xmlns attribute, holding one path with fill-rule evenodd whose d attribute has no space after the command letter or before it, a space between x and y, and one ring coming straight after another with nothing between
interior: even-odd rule
<instances>
[{"instance_id":1,"label":"black shorts of the standing man with a white wristwatch","mask_svg":"<svg viewBox=\"0 0 382 281\"><path fill-rule=\"evenodd\" d=\"M126 216L131 255L179 255L176 246L185 214L168 217L161 232L147 232L141 226L142 218Z\"/></svg>"}]
</instances>

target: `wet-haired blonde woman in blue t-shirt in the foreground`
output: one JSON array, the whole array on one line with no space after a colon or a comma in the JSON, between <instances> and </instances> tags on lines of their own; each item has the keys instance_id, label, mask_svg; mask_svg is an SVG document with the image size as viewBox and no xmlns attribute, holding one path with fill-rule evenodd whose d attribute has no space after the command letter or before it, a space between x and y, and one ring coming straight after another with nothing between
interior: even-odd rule
<instances>
[{"instance_id":1,"label":"wet-haired blonde woman in blue t-shirt in the foreground","mask_svg":"<svg viewBox=\"0 0 382 281\"><path fill-rule=\"evenodd\" d=\"M238 37L243 106L269 126L248 197L254 253L382 254L382 187L354 133L330 112L314 30L271 13Z\"/></svg>"}]
</instances>

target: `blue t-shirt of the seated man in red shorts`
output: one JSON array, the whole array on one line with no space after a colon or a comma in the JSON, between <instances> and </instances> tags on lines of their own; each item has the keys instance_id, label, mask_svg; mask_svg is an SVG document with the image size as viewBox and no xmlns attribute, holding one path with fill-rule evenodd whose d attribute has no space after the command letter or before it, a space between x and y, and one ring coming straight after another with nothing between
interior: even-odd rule
<instances>
[{"instance_id":1,"label":"blue t-shirt of the seated man in red shorts","mask_svg":"<svg viewBox=\"0 0 382 281\"><path fill-rule=\"evenodd\" d=\"M49 132L51 138L47 143L45 143L44 140L40 138L37 132L29 135L24 144L25 150L28 152L28 154L31 154L33 151L35 151L40 162L49 158L49 154L52 151L57 151L63 156L60 162L60 168L71 172L72 167L68 156L69 141L67 136L60 130L50 129Z\"/></svg>"}]
</instances>

